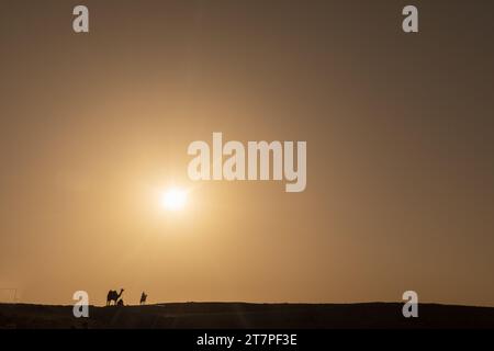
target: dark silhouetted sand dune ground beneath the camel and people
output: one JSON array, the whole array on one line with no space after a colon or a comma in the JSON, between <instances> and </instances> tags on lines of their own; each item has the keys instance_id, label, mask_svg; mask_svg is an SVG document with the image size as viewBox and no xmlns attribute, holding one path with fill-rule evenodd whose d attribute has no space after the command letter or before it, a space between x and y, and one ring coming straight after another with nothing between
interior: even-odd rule
<instances>
[{"instance_id":1,"label":"dark silhouetted sand dune ground beneath the camel and people","mask_svg":"<svg viewBox=\"0 0 494 351\"><path fill-rule=\"evenodd\" d=\"M494 328L494 308L419 305L404 318L402 304L171 303L90 306L75 318L72 306L0 305L0 328Z\"/></svg>"}]
</instances>

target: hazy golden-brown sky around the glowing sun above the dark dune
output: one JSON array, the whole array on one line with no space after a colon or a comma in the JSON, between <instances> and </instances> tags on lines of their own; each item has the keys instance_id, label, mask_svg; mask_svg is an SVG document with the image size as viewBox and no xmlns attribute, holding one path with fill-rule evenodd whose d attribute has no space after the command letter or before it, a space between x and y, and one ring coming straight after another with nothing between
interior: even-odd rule
<instances>
[{"instance_id":1,"label":"hazy golden-brown sky around the glowing sun above the dark dune","mask_svg":"<svg viewBox=\"0 0 494 351\"><path fill-rule=\"evenodd\" d=\"M413 3L1 1L0 301L494 306L493 4ZM305 191L191 181L213 132Z\"/></svg>"}]
</instances>

